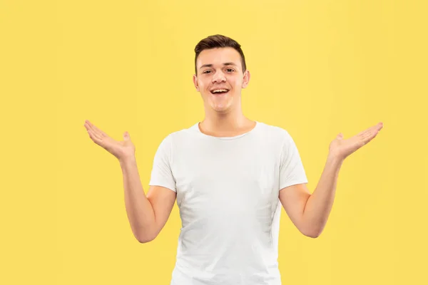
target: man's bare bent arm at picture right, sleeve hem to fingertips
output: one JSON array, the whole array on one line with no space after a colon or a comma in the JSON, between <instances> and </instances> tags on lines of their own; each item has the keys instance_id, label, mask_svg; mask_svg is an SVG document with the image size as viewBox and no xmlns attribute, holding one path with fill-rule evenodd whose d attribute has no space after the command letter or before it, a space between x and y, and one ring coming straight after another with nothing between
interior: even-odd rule
<instances>
[{"instance_id":1,"label":"man's bare bent arm at picture right, sleeve hem to fingertips","mask_svg":"<svg viewBox=\"0 0 428 285\"><path fill-rule=\"evenodd\" d=\"M297 229L307 237L318 237L327 223L335 199L337 177L346 157L376 137L383 124L379 123L347 140L342 133L330 143L324 171L312 195L305 184L291 185L280 190L280 202Z\"/></svg>"}]
</instances>

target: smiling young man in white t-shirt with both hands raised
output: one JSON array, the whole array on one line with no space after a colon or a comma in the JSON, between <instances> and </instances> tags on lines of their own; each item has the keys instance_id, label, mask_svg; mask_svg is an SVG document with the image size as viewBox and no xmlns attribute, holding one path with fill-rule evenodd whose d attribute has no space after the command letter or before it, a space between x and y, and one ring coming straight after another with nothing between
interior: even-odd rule
<instances>
[{"instance_id":1,"label":"smiling young man in white t-shirt with both hands raised","mask_svg":"<svg viewBox=\"0 0 428 285\"><path fill-rule=\"evenodd\" d=\"M198 43L193 83L205 118L161 142L147 197L128 133L116 142L86 121L93 141L121 163L128 219L140 242L156 238L177 199L182 228L170 284L281 284L281 205L302 234L318 237L343 160L382 128L379 123L347 140L337 135L311 195L290 134L243 115L241 89L249 81L243 51L232 38L215 35Z\"/></svg>"}]
</instances>

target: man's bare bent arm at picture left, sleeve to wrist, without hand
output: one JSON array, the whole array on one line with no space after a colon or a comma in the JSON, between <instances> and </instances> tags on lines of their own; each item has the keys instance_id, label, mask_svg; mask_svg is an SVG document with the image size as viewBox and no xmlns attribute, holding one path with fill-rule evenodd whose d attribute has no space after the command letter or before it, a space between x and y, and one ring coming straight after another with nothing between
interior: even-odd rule
<instances>
[{"instance_id":1,"label":"man's bare bent arm at picture left, sleeve to wrist, without hand","mask_svg":"<svg viewBox=\"0 0 428 285\"><path fill-rule=\"evenodd\" d=\"M119 160L123 173L125 206L134 237L151 242L165 226L173 209L176 193L161 186L150 186L147 196L141 185L135 157Z\"/></svg>"}]
</instances>

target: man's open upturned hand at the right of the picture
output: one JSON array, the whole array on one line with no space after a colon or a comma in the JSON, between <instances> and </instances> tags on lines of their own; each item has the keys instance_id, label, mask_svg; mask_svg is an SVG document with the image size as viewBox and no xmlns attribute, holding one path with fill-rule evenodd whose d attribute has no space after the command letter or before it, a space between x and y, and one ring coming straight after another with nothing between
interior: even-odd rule
<instances>
[{"instance_id":1,"label":"man's open upturned hand at the right of the picture","mask_svg":"<svg viewBox=\"0 0 428 285\"><path fill-rule=\"evenodd\" d=\"M383 123L378 123L347 140L344 140L342 133L340 133L330 143L330 154L345 159L360 147L370 142L370 140L373 140L382 128Z\"/></svg>"}]
</instances>

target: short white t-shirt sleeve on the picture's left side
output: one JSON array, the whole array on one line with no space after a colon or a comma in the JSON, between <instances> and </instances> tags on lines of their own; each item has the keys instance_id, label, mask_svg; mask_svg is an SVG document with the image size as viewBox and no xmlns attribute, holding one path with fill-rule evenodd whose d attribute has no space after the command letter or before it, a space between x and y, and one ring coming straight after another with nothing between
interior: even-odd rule
<instances>
[{"instance_id":1,"label":"short white t-shirt sleeve on the picture's left side","mask_svg":"<svg viewBox=\"0 0 428 285\"><path fill-rule=\"evenodd\" d=\"M172 138L168 135L164 138L156 151L153 159L151 179L148 185L166 187L174 192L175 179L171 170Z\"/></svg>"}]
</instances>

